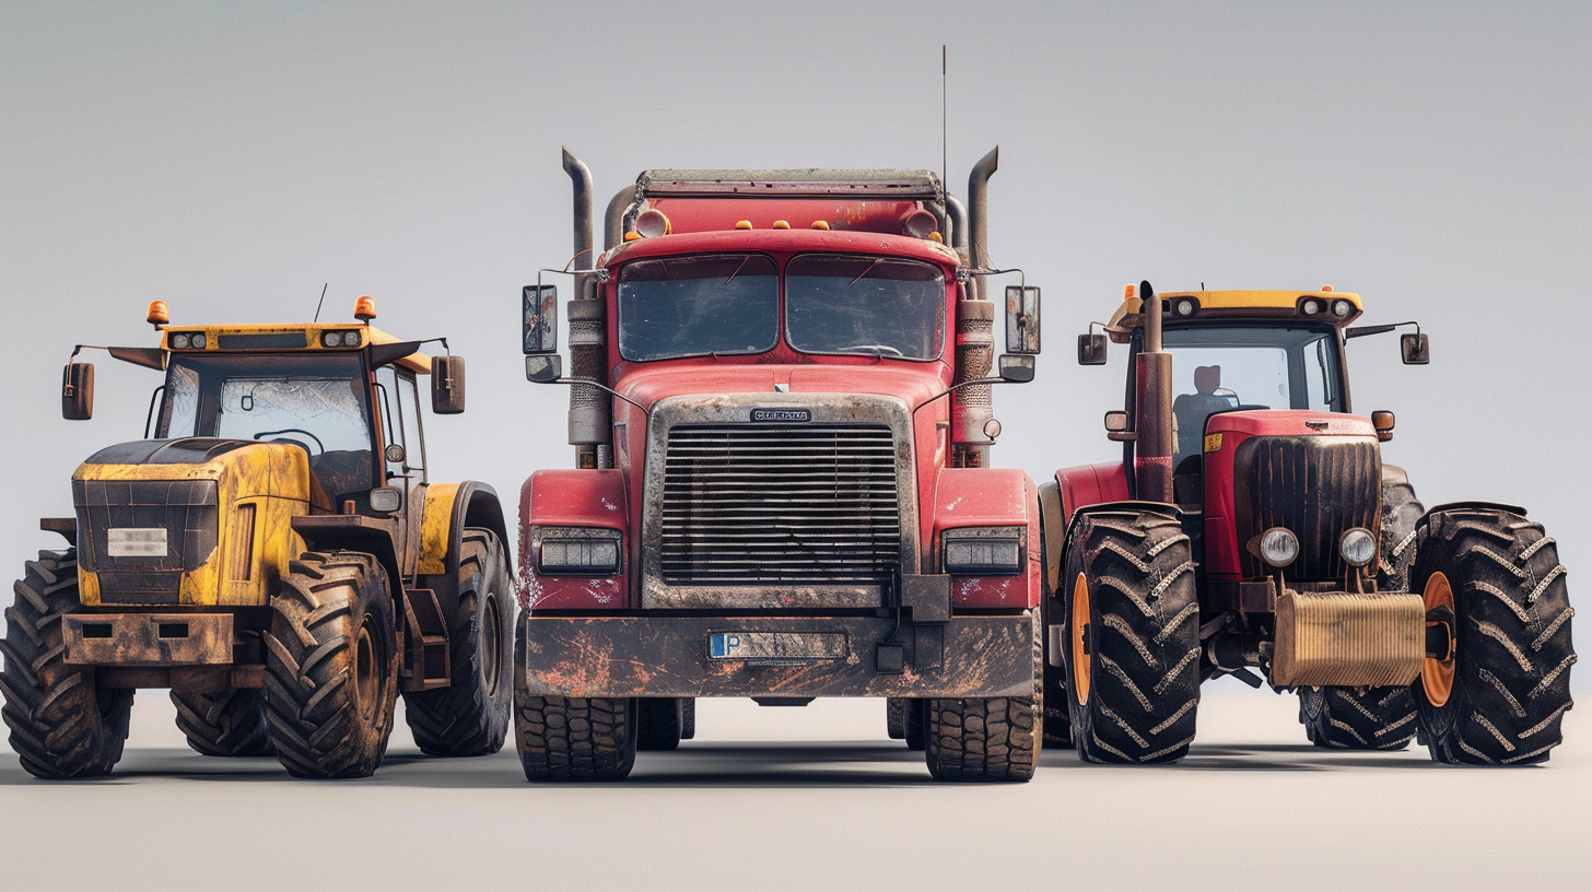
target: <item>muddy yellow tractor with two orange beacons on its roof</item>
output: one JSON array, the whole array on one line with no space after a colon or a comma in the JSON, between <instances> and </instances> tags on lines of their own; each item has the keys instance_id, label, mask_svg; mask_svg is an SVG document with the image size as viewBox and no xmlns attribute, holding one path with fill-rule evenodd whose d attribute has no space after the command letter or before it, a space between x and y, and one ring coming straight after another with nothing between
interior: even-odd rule
<instances>
[{"instance_id":1,"label":"muddy yellow tractor with two orange beacons on its roof","mask_svg":"<svg viewBox=\"0 0 1592 892\"><path fill-rule=\"evenodd\" d=\"M398 691L422 750L501 747L503 510L428 483L420 427L419 376L460 413L463 360L374 317L360 298L357 323L181 327L154 301L159 347L105 347L166 382L145 440L78 467L76 516L41 521L72 548L16 583L0 690L22 768L108 774L135 688L170 688L197 752L274 752L299 777L376 771ZM62 414L92 406L94 366L70 362Z\"/></svg>"}]
</instances>

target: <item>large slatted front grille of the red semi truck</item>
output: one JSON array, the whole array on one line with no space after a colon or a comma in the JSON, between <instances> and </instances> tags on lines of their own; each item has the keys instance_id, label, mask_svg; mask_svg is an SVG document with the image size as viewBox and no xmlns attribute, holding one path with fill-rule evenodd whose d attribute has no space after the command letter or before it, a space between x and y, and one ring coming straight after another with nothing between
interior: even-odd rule
<instances>
[{"instance_id":1,"label":"large slatted front grille of the red semi truck","mask_svg":"<svg viewBox=\"0 0 1592 892\"><path fill-rule=\"evenodd\" d=\"M677 425L664 465L669 585L885 585L901 559L887 425Z\"/></svg>"}]
</instances>

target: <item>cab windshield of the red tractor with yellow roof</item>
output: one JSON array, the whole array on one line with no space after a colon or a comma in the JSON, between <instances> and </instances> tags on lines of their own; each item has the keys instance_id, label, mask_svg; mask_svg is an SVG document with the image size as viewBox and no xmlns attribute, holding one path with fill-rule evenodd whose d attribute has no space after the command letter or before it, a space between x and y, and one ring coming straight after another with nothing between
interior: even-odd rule
<instances>
[{"instance_id":1,"label":"cab windshield of the red tractor with yellow roof","mask_svg":"<svg viewBox=\"0 0 1592 892\"><path fill-rule=\"evenodd\" d=\"M1227 409L1342 413L1337 338L1328 327L1197 325L1167 328L1176 460L1197 456L1205 419Z\"/></svg>"}]
</instances>

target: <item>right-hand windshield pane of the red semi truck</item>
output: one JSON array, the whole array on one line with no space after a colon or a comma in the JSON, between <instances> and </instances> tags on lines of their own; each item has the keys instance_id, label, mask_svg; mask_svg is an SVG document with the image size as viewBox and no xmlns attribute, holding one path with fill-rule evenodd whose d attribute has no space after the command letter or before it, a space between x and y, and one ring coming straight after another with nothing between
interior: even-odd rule
<instances>
[{"instance_id":1,"label":"right-hand windshield pane of the red semi truck","mask_svg":"<svg viewBox=\"0 0 1592 892\"><path fill-rule=\"evenodd\" d=\"M799 255L785 264L785 327L806 354L933 360L946 339L946 274L917 260Z\"/></svg>"}]
</instances>

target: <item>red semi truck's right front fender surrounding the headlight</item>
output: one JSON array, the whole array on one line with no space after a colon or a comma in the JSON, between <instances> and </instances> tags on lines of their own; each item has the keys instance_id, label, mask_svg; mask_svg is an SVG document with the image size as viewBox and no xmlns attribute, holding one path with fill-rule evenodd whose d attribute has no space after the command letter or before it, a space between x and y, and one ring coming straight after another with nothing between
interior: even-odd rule
<instances>
[{"instance_id":1,"label":"red semi truck's right front fender surrounding the headlight","mask_svg":"<svg viewBox=\"0 0 1592 892\"><path fill-rule=\"evenodd\" d=\"M933 500L930 553L939 569L941 534L958 527L1027 527L1027 567L1016 577L957 577L952 607L1014 607L1040 604L1040 497L1033 478L1019 468L946 468L939 471ZM927 569L927 567L925 567Z\"/></svg>"}]
</instances>

